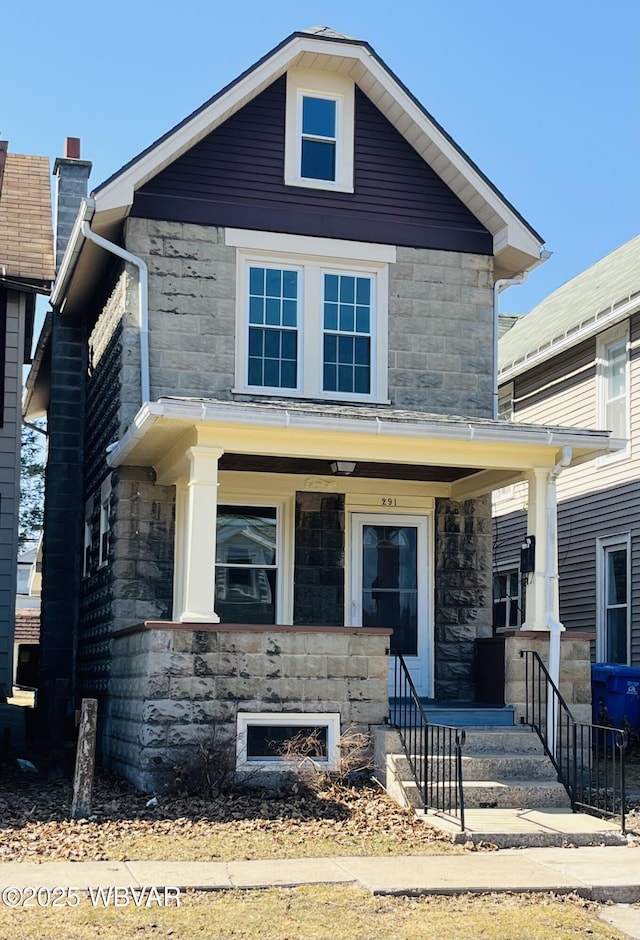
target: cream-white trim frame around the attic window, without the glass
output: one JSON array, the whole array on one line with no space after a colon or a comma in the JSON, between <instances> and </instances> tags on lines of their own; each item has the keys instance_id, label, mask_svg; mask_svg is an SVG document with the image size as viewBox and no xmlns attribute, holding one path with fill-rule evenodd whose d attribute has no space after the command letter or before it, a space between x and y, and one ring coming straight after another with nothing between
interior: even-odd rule
<instances>
[{"instance_id":1,"label":"cream-white trim frame around the attic window, without the glass","mask_svg":"<svg viewBox=\"0 0 640 940\"><path fill-rule=\"evenodd\" d=\"M336 102L336 178L307 179L300 175L303 96L330 98ZM353 139L355 91L347 75L289 69L285 112L284 182L286 186L353 192Z\"/></svg>"}]
</instances>

